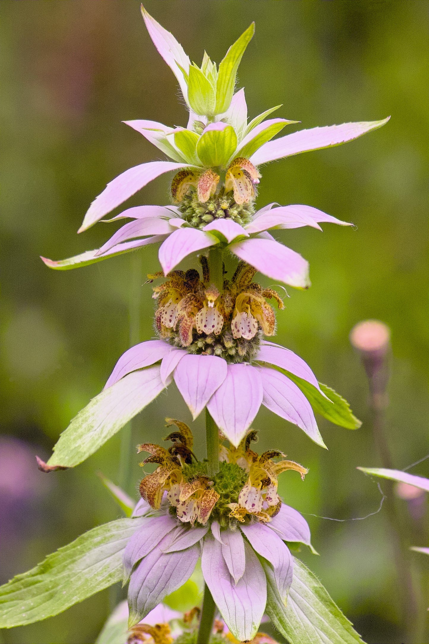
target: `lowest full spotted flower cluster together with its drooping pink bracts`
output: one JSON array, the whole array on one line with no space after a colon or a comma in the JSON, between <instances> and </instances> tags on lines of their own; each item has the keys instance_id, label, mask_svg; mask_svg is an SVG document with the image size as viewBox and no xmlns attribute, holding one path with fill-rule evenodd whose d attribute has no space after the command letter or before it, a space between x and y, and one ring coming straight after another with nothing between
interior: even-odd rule
<instances>
[{"instance_id":1,"label":"lowest full spotted flower cluster together with its drooping pink bracts","mask_svg":"<svg viewBox=\"0 0 429 644\"><path fill-rule=\"evenodd\" d=\"M192 432L181 421L163 448L142 444L156 470L140 483L134 516L143 516L123 553L124 582L129 580L132 627L194 571L201 556L205 583L228 629L239 641L253 639L267 598L267 583L286 601L293 579L293 558L286 542L311 547L306 520L278 496L278 475L288 469L304 479L307 469L277 450L258 455L248 431L239 446L219 434L219 471L194 455ZM251 620L248 619L251 614Z\"/></svg>"}]
</instances>

